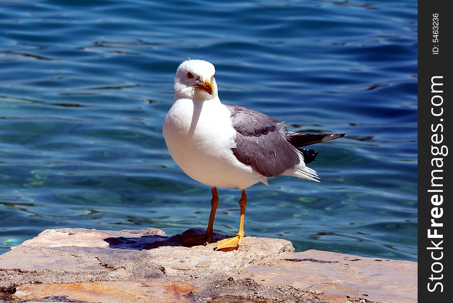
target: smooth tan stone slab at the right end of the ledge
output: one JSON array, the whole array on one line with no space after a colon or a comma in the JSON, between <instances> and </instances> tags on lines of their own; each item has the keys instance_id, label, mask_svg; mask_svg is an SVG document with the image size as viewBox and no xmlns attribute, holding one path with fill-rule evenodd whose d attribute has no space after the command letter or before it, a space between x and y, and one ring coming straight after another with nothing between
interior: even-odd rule
<instances>
[{"instance_id":1,"label":"smooth tan stone slab at the right end of the ledge","mask_svg":"<svg viewBox=\"0 0 453 303\"><path fill-rule=\"evenodd\" d=\"M364 298L386 303L417 302L417 263L306 250L248 267L239 278L291 285L342 301Z\"/></svg>"}]
</instances>

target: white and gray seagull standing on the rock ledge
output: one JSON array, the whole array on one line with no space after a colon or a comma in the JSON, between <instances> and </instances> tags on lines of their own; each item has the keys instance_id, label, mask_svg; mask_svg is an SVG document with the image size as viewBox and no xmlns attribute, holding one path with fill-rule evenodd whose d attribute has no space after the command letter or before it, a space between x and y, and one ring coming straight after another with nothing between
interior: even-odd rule
<instances>
[{"instance_id":1,"label":"white and gray seagull standing on the rock ledge","mask_svg":"<svg viewBox=\"0 0 453 303\"><path fill-rule=\"evenodd\" d=\"M212 191L206 232L183 238L182 243L212 241L217 187L241 191L238 233L217 241L214 248L228 251L237 249L244 239L246 188L259 182L268 185L268 177L280 175L319 182L316 171L306 166L318 152L301 147L345 134L301 134L288 127L263 113L221 103L211 63L189 59L179 65L173 105L163 123L165 143L176 164Z\"/></svg>"}]
</instances>

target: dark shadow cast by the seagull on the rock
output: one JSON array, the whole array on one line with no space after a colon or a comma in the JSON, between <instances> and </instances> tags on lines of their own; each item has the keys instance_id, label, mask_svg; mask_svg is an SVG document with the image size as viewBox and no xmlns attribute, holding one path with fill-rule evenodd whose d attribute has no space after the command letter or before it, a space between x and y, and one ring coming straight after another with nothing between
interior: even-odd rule
<instances>
[{"instance_id":1,"label":"dark shadow cast by the seagull on the rock","mask_svg":"<svg viewBox=\"0 0 453 303\"><path fill-rule=\"evenodd\" d=\"M145 235L141 237L110 237L105 238L104 241L109 243L110 248L119 249L153 249L161 246L186 246L192 247L196 245L203 245L203 243L184 243L181 241L183 237L198 237L205 233L204 229L191 228L183 232L182 235L174 235L171 237L160 235ZM212 235L211 243L218 240L229 238L231 236L214 233Z\"/></svg>"}]
</instances>

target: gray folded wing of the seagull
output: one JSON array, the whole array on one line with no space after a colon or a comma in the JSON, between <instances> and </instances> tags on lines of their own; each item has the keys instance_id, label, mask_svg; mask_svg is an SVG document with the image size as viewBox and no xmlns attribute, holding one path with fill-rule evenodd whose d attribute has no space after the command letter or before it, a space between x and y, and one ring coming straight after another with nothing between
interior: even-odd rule
<instances>
[{"instance_id":1,"label":"gray folded wing of the seagull","mask_svg":"<svg viewBox=\"0 0 453 303\"><path fill-rule=\"evenodd\" d=\"M236 159L266 177L276 177L300 163L299 153L286 139L286 127L263 113L226 105L236 134Z\"/></svg>"}]
</instances>

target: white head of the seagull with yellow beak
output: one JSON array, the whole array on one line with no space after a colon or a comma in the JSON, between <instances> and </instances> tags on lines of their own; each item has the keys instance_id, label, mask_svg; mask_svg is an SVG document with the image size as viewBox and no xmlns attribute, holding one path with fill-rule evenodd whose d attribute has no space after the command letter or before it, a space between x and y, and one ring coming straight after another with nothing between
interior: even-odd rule
<instances>
[{"instance_id":1,"label":"white head of the seagull with yellow beak","mask_svg":"<svg viewBox=\"0 0 453 303\"><path fill-rule=\"evenodd\" d=\"M218 97L215 68L203 60L186 60L176 70L174 99L210 100Z\"/></svg>"}]
</instances>

